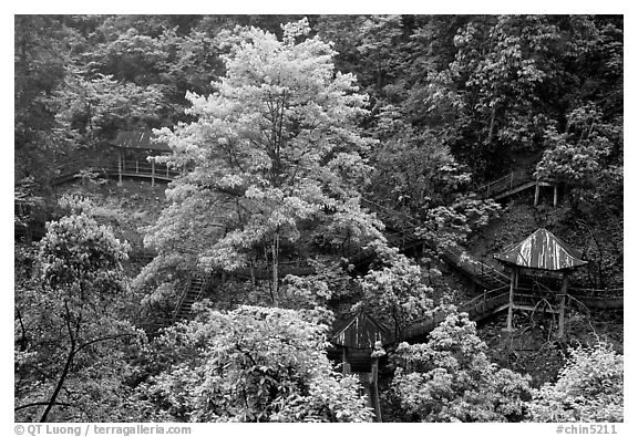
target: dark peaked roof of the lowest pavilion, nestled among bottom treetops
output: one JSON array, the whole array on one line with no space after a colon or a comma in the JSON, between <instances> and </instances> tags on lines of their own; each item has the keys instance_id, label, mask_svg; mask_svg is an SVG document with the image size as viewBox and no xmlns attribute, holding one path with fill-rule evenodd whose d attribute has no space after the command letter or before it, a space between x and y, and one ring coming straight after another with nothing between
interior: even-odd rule
<instances>
[{"instance_id":1,"label":"dark peaked roof of the lowest pavilion, nestled among bottom treetops","mask_svg":"<svg viewBox=\"0 0 638 437\"><path fill-rule=\"evenodd\" d=\"M337 321L333 325L332 343L354 348L373 348L375 342L388 344L392 341L390 329L360 311L353 316Z\"/></svg>"}]
</instances>

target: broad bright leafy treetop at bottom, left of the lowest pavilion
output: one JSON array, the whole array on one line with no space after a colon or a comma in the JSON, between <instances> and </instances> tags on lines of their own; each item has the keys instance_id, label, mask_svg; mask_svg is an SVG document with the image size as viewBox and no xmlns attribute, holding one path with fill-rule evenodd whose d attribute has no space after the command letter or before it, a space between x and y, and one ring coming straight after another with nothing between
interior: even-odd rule
<instances>
[{"instance_id":1,"label":"broad bright leafy treetop at bottom, left of the lowest pavilion","mask_svg":"<svg viewBox=\"0 0 638 437\"><path fill-rule=\"evenodd\" d=\"M333 372L326 356L326 315L202 309L195 321L158 339L154 354L165 368L140 387L140 396L178 420L370 420L358 382Z\"/></svg>"}]
</instances>

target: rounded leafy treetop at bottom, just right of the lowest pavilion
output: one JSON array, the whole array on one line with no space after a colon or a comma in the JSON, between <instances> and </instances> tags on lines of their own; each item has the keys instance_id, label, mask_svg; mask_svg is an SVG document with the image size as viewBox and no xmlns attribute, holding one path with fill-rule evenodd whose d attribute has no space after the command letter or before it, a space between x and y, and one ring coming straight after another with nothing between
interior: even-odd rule
<instances>
[{"instance_id":1,"label":"rounded leafy treetop at bottom, just right of the lowest pavilion","mask_svg":"<svg viewBox=\"0 0 638 437\"><path fill-rule=\"evenodd\" d=\"M528 378L497 368L466 313L451 313L428 343L401 343L392 391L421 422L507 422L523 414Z\"/></svg>"}]
</instances>

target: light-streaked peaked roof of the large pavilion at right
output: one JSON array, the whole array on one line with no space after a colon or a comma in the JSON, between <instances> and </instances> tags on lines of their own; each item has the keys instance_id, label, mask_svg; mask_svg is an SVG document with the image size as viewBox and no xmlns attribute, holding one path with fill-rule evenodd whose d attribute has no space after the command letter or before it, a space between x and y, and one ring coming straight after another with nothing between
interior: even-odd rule
<instances>
[{"instance_id":1,"label":"light-streaked peaked roof of the large pavilion at right","mask_svg":"<svg viewBox=\"0 0 638 437\"><path fill-rule=\"evenodd\" d=\"M539 270L568 270L585 266L580 252L548 230L537 229L523 241L507 248L494 258L508 264Z\"/></svg>"}]
</instances>

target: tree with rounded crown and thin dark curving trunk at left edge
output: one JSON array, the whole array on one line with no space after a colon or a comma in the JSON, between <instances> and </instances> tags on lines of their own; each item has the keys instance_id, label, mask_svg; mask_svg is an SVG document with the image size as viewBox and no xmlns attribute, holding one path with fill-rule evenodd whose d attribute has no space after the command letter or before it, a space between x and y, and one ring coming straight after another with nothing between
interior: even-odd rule
<instances>
[{"instance_id":1,"label":"tree with rounded crown and thin dark curving trunk at left edge","mask_svg":"<svg viewBox=\"0 0 638 437\"><path fill-rule=\"evenodd\" d=\"M126 250L84 212L48 223L34 262L42 275L16 290L18 417L104 419L121 403L124 356L137 336L119 318Z\"/></svg>"}]
</instances>

